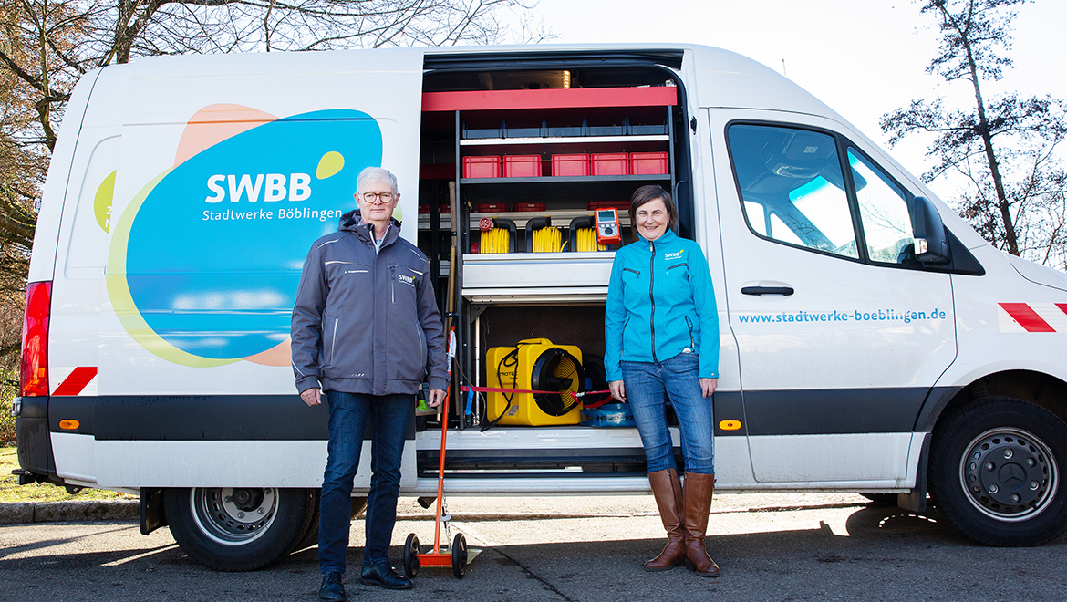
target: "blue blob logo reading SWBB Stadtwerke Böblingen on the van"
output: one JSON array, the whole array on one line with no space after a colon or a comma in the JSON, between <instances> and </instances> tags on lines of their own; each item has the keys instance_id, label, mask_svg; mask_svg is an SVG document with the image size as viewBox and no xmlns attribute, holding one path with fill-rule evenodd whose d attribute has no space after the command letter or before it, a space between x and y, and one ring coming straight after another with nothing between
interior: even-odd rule
<instances>
[{"instance_id":1,"label":"blue blob logo reading SWBB Stadtwerke B\u00f6blingen on the van","mask_svg":"<svg viewBox=\"0 0 1067 602\"><path fill-rule=\"evenodd\" d=\"M288 365L307 250L381 160L378 123L338 109L260 123L160 174L111 224L107 283L123 327L178 364Z\"/></svg>"}]
</instances>

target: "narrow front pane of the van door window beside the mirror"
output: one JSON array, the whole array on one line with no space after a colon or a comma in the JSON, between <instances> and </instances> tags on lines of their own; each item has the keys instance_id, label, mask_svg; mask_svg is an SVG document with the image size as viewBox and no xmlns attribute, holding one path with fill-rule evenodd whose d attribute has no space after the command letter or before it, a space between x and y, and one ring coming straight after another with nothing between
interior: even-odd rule
<instances>
[{"instance_id":1,"label":"narrow front pane of the van door window beside the mirror","mask_svg":"<svg viewBox=\"0 0 1067 602\"><path fill-rule=\"evenodd\" d=\"M871 260L909 263L912 248L908 245L914 235L904 191L854 148L848 149L848 165Z\"/></svg>"}]
</instances>

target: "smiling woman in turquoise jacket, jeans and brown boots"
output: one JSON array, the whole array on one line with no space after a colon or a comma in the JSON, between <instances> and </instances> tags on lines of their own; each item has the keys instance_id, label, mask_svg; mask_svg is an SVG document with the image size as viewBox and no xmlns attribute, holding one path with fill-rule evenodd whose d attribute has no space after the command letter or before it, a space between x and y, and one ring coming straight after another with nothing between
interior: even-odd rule
<instances>
[{"instance_id":1,"label":"smiling woman in turquoise jacket, jeans and brown boots","mask_svg":"<svg viewBox=\"0 0 1067 602\"><path fill-rule=\"evenodd\" d=\"M608 386L628 401L649 464L667 545L644 564L666 571L683 560L700 576L719 576L704 534L715 490L712 394L718 386L719 321L700 245L679 237L678 209L658 186L634 192L630 219L638 240L611 267L604 319ZM664 395L682 435L685 489L674 464Z\"/></svg>"}]
</instances>

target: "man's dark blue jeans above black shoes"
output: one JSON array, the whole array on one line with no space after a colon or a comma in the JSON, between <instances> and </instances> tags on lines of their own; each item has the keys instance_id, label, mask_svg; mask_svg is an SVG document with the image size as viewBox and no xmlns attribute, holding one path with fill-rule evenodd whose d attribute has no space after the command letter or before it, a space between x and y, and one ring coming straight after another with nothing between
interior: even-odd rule
<instances>
[{"instance_id":1,"label":"man's dark blue jeans above black shoes","mask_svg":"<svg viewBox=\"0 0 1067 602\"><path fill-rule=\"evenodd\" d=\"M400 458L408 434L412 395L364 395L331 391L330 456L319 506L319 569L345 572L352 516L352 480L360 466L363 433L370 423L370 493L364 520L363 564L388 564L400 491Z\"/></svg>"}]
</instances>

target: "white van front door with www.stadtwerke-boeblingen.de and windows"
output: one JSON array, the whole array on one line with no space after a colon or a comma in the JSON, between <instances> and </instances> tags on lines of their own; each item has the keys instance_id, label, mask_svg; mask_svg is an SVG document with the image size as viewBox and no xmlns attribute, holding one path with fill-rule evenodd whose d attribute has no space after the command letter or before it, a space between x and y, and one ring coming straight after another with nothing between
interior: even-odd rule
<instances>
[{"instance_id":1,"label":"white van front door with www.stadtwerke-boeblingen.de and windows","mask_svg":"<svg viewBox=\"0 0 1067 602\"><path fill-rule=\"evenodd\" d=\"M956 354L950 276L913 258L907 178L828 120L710 114L755 479L905 485Z\"/></svg>"}]
</instances>

